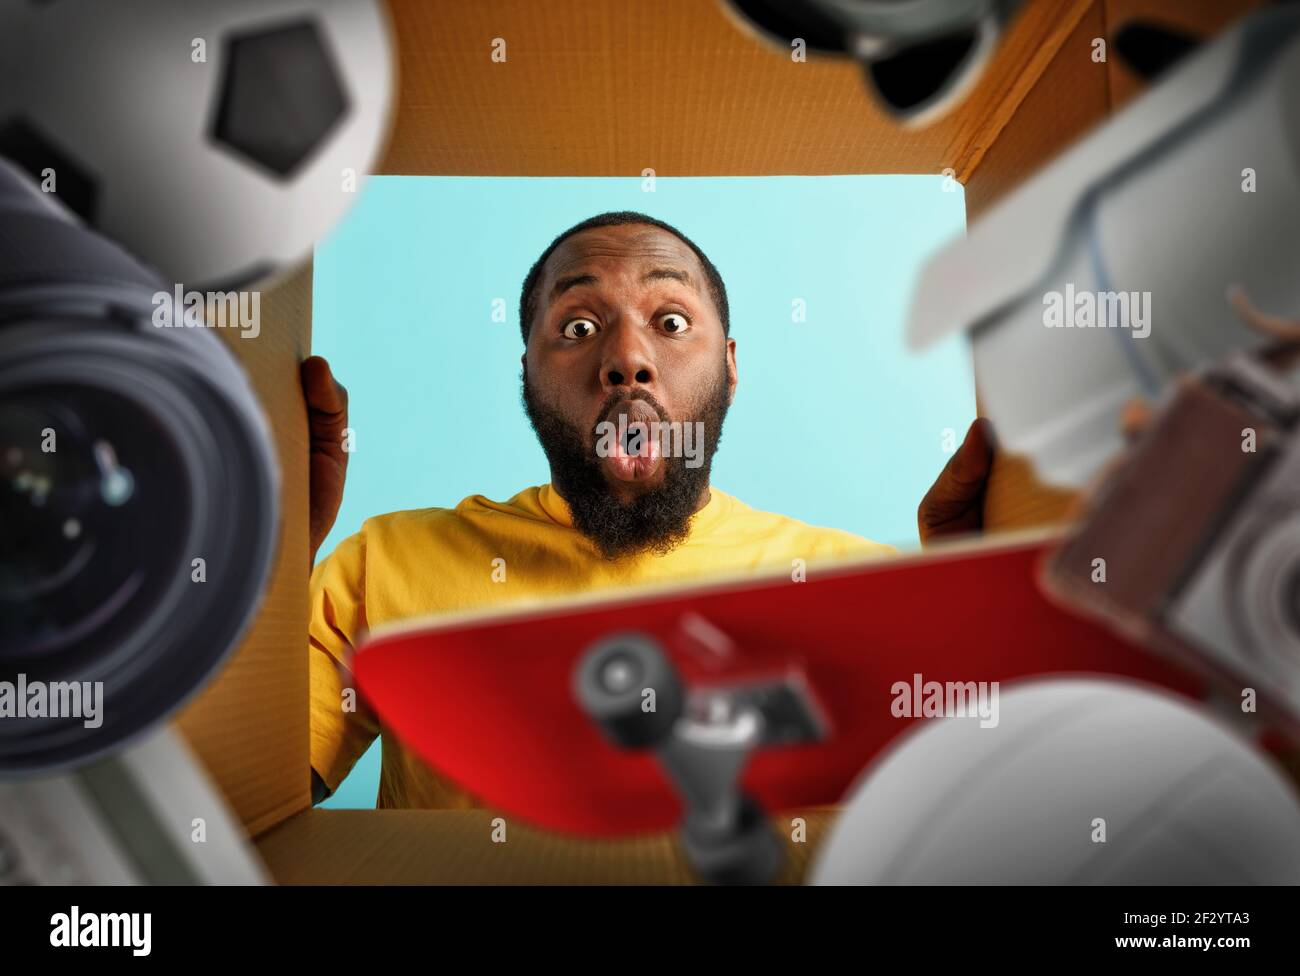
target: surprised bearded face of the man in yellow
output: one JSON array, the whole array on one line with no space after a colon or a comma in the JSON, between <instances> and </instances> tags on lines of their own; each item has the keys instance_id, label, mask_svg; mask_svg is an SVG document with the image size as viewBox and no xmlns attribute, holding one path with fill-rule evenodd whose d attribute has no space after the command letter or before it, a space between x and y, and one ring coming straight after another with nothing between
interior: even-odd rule
<instances>
[{"instance_id":1,"label":"surprised bearded face of the man in yellow","mask_svg":"<svg viewBox=\"0 0 1300 976\"><path fill-rule=\"evenodd\" d=\"M606 556L667 551L707 500L736 390L736 343L699 260L650 225L595 227L551 252L537 294L524 404L555 487ZM679 421L684 435L703 424L705 443L694 457L666 456L655 421Z\"/></svg>"}]
</instances>

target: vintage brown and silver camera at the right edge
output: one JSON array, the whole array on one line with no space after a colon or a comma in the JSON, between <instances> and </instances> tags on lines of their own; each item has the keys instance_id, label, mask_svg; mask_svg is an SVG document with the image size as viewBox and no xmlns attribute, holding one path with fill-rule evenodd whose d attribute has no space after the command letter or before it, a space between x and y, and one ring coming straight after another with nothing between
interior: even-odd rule
<instances>
[{"instance_id":1,"label":"vintage brown and silver camera at the right edge","mask_svg":"<svg viewBox=\"0 0 1300 976\"><path fill-rule=\"evenodd\" d=\"M1295 377L1238 353L1184 381L1043 582L1300 730Z\"/></svg>"}]
</instances>

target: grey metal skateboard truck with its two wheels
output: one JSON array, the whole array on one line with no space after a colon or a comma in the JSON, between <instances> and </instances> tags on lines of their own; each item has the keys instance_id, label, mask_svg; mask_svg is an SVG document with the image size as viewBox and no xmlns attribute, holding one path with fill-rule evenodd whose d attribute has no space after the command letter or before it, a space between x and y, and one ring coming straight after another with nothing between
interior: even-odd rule
<instances>
[{"instance_id":1,"label":"grey metal skateboard truck with its two wheels","mask_svg":"<svg viewBox=\"0 0 1300 976\"><path fill-rule=\"evenodd\" d=\"M606 737L653 750L686 807L681 841L707 881L771 881L781 847L738 785L762 745L820 738L807 690L794 680L688 691L656 641L642 633L593 643L575 673L578 702Z\"/></svg>"}]
</instances>

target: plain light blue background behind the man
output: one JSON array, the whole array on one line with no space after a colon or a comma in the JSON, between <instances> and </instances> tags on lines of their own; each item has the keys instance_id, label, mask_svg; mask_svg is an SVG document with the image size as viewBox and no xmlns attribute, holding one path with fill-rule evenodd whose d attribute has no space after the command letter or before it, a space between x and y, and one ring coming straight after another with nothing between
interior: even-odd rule
<instances>
[{"instance_id":1,"label":"plain light blue background behind the man","mask_svg":"<svg viewBox=\"0 0 1300 976\"><path fill-rule=\"evenodd\" d=\"M315 259L312 351L347 386L356 431L322 555L372 515L502 500L549 480L519 396L519 290L555 235L621 209L679 227L727 285L740 386L712 483L757 508L918 545L944 430L959 441L975 416L965 337L920 356L904 347L922 261L965 231L959 185L701 177L646 192L640 178L374 177ZM796 298L803 322L790 320ZM378 776L376 741L324 806L373 807Z\"/></svg>"}]
</instances>

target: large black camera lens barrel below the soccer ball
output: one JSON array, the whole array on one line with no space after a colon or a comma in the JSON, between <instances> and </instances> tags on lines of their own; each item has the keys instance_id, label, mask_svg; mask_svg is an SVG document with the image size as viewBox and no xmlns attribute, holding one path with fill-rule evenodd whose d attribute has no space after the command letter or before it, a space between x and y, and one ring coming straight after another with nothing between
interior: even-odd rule
<instances>
[{"instance_id":1,"label":"large black camera lens barrel below the soccer ball","mask_svg":"<svg viewBox=\"0 0 1300 976\"><path fill-rule=\"evenodd\" d=\"M0 229L0 691L95 702L6 712L3 775L88 762L195 694L252 621L280 519L234 356L153 324L172 289L4 160Z\"/></svg>"}]
</instances>

